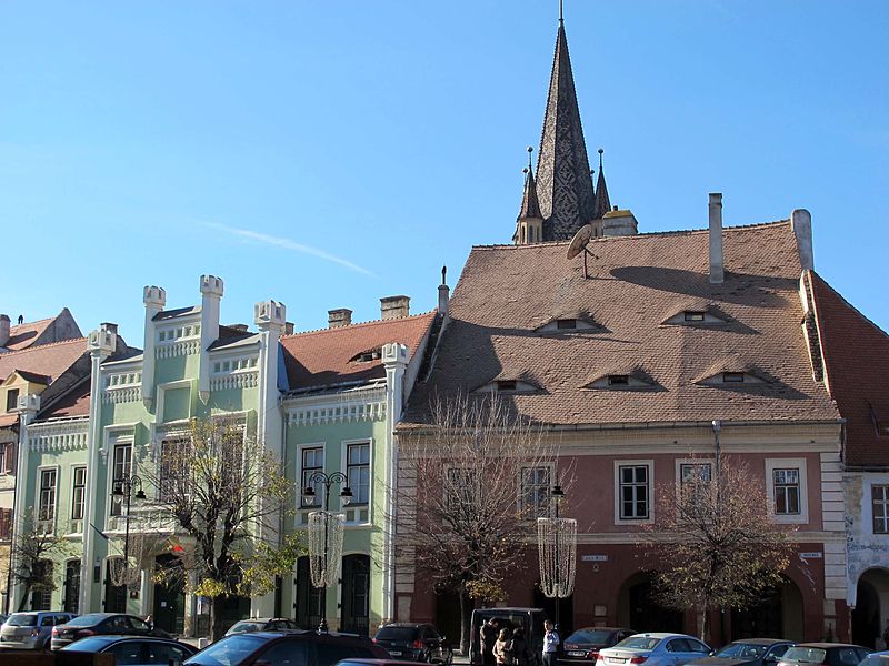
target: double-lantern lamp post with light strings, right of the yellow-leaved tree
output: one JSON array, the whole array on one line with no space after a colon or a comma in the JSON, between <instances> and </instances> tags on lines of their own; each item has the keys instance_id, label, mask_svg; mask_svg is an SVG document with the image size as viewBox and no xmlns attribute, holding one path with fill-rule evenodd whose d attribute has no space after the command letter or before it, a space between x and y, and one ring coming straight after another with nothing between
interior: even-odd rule
<instances>
[{"instance_id":1,"label":"double-lantern lamp post with light strings, right of the yellow-leaved tree","mask_svg":"<svg viewBox=\"0 0 889 666\"><path fill-rule=\"evenodd\" d=\"M316 472L309 477L302 491L307 504L314 503L317 496L314 485L318 483L324 488L324 503L321 511L313 511L309 514L309 574L312 585L321 588L321 624L318 625L318 632L326 633L328 630L326 589L336 585L339 577L344 522L342 514L333 514L328 511L330 487L334 484L342 485L342 492L340 492L342 506L351 502L352 491L349 488L348 477L342 472L334 472L330 475Z\"/></svg>"}]
</instances>

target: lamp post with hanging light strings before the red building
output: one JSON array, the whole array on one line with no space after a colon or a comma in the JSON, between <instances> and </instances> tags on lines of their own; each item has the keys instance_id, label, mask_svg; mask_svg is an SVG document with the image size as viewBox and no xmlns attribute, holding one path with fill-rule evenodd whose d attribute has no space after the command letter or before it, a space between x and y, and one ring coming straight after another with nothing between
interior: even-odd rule
<instances>
[{"instance_id":1,"label":"lamp post with hanging light strings before the red building","mask_svg":"<svg viewBox=\"0 0 889 666\"><path fill-rule=\"evenodd\" d=\"M559 624L559 602L575 591L577 562L577 521L559 517L559 504L565 500L560 485L552 486L550 496L556 505L555 518L537 519L537 543L540 556L540 589L556 599L556 624Z\"/></svg>"}]
</instances>

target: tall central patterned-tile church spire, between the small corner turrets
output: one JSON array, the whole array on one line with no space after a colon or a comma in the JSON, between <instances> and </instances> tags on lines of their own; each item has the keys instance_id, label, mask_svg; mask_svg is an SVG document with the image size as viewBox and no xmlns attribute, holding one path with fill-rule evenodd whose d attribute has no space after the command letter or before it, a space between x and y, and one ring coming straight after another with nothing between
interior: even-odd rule
<instances>
[{"instance_id":1,"label":"tall central patterned-tile church spire, between the small corner turrets","mask_svg":"<svg viewBox=\"0 0 889 666\"><path fill-rule=\"evenodd\" d=\"M545 241L568 240L593 219L596 198L561 16L537 161L537 194Z\"/></svg>"}]
</instances>

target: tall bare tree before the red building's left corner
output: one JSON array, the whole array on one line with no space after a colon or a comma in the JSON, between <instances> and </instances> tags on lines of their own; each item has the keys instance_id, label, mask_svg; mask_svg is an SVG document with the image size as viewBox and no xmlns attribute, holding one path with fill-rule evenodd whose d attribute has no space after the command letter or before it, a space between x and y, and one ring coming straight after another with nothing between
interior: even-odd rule
<instances>
[{"instance_id":1,"label":"tall bare tree before the red building's left corner","mask_svg":"<svg viewBox=\"0 0 889 666\"><path fill-rule=\"evenodd\" d=\"M549 515L556 452L497 396L438 402L431 424L399 441L399 561L459 596L467 654L476 602L506 599L505 582L533 547L533 518Z\"/></svg>"}]
</instances>

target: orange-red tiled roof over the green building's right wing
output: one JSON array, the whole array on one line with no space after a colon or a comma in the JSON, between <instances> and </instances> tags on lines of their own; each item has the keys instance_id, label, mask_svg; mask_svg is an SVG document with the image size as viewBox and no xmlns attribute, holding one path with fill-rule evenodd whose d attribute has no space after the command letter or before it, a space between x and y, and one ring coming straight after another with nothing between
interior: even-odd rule
<instances>
[{"instance_id":1,"label":"orange-red tiled roof over the green building's right wing","mask_svg":"<svg viewBox=\"0 0 889 666\"><path fill-rule=\"evenodd\" d=\"M434 312L286 335L281 339L290 390L367 382L383 377L382 361L354 360L390 342L408 345L411 359L429 332Z\"/></svg>"}]
</instances>

